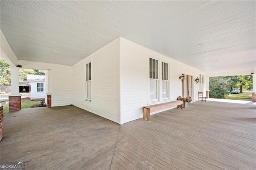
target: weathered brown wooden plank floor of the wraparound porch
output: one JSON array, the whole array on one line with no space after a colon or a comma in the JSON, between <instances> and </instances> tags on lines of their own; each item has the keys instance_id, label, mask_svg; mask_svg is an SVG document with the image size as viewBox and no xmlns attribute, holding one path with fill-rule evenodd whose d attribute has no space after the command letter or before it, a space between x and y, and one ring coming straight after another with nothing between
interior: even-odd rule
<instances>
[{"instance_id":1,"label":"weathered brown wooden plank floor of the wraparound porch","mask_svg":"<svg viewBox=\"0 0 256 170\"><path fill-rule=\"evenodd\" d=\"M256 169L255 105L207 102L118 125L74 106L4 117L1 161L35 169Z\"/></svg>"}]
</instances>

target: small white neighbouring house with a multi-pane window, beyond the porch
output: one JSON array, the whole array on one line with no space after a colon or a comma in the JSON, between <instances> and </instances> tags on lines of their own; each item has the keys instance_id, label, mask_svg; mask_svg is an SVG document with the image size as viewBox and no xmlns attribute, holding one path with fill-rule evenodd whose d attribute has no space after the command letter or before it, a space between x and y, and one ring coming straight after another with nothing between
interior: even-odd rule
<instances>
[{"instance_id":1,"label":"small white neighbouring house with a multi-pane window, beyond the porch","mask_svg":"<svg viewBox=\"0 0 256 170\"><path fill-rule=\"evenodd\" d=\"M45 85L44 75L32 75L28 74L27 81L31 85L31 99L44 98L45 97Z\"/></svg>"}]
</instances>

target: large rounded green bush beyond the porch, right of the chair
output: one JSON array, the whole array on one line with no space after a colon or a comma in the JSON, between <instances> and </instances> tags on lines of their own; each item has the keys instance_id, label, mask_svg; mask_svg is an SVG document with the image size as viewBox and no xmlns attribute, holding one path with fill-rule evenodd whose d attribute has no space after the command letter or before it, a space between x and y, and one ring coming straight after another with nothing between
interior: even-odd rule
<instances>
[{"instance_id":1,"label":"large rounded green bush beyond the porch, right of the chair","mask_svg":"<svg viewBox=\"0 0 256 170\"><path fill-rule=\"evenodd\" d=\"M209 77L210 98L224 99L228 94L228 82L224 77Z\"/></svg>"}]
</instances>

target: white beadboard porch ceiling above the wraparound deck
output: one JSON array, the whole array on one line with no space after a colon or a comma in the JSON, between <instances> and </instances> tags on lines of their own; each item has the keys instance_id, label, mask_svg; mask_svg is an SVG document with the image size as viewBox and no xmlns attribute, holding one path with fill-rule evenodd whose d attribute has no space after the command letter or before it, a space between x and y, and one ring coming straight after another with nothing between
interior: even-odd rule
<instances>
[{"instance_id":1,"label":"white beadboard porch ceiling above the wraparound deck","mask_svg":"<svg viewBox=\"0 0 256 170\"><path fill-rule=\"evenodd\" d=\"M18 59L74 65L121 36L206 72L256 65L256 1L0 3Z\"/></svg>"}]
</instances>

